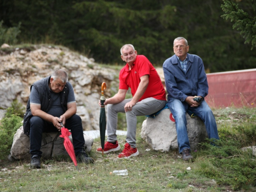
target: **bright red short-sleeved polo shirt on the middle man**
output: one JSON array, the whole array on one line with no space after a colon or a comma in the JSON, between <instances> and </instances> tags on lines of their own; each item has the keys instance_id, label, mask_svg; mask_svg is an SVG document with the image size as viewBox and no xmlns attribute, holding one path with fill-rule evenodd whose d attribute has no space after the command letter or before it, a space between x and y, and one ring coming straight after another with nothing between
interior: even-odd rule
<instances>
[{"instance_id":1,"label":"bright red short-sleeved polo shirt on the middle man","mask_svg":"<svg viewBox=\"0 0 256 192\"><path fill-rule=\"evenodd\" d=\"M119 89L128 90L131 88L132 95L134 96L139 87L140 77L143 75L149 75L149 82L145 93L139 101L148 97L166 100L161 79L156 69L144 55L137 55L130 71L128 63L121 69L119 74Z\"/></svg>"}]
</instances>

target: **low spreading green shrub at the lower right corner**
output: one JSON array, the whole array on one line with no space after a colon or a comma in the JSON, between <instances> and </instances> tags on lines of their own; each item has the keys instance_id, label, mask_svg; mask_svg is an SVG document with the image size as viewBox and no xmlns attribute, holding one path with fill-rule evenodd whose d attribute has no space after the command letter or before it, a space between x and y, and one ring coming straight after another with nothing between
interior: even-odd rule
<instances>
[{"instance_id":1,"label":"low spreading green shrub at the lower right corner","mask_svg":"<svg viewBox=\"0 0 256 192\"><path fill-rule=\"evenodd\" d=\"M238 130L238 135L244 132L241 126ZM244 143L237 138L239 137L219 140L216 142L217 146L203 143L210 166L205 166L203 162L199 173L214 178L218 184L230 185L233 190L249 190L256 186L256 161L251 151L249 153L240 150Z\"/></svg>"}]
</instances>

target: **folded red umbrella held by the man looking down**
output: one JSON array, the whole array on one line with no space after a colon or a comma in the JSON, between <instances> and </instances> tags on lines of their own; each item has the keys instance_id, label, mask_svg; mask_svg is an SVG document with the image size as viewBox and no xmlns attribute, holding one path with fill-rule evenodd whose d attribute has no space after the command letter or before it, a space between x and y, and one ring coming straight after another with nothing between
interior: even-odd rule
<instances>
[{"instance_id":1,"label":"folded red umbrella held by the man looking down","mask_svg":"<svg viewBox=\"0 0 256 192\"><path fill-rule=\"evenodd\" d=\"M76 156L75 156L75 151L74 151L74 147L72 142L69 139L69 136L71 135L71 133L69 132L69 130L62 124L62 122L60 122L61 124L61 135L60 137L64 138L63 144L66 148L66 151L68 152L69 156L71 157L74 165L76 166L76 169L78 170L78 166L77 166L77 161L76 161Z\"/></svg>"}]
</instances>

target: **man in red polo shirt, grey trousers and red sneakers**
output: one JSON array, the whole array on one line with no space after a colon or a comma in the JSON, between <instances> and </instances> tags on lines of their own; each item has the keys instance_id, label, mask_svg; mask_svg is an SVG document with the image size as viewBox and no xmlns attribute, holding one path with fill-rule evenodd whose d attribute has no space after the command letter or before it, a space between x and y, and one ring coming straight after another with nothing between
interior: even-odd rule
<instances>
[{"instance_id":1,"label":"man in red polo shirt, grey trousers and red sneakers","mask_svg":"<svg viewBox=\"0 0 256 192\"><path fill-rule=\"evenodd\" d=\"M137 116L151 115L164 108L166 96L156 69L144 55L137 55L137 51L131 44L124 45L120 52L126 65L119 74L118 93L104 102L104 105L108 104L106 124L108 141L104 145L103 153L120 150L116 130L117 113L121 112L126 114L127 143L118 158L127 159L139 155L136 148ZM129 88L131 88L133 98L125 99ZM97 152L102 153L101 147L97 149Z\"/></svg>"}]
</instances>

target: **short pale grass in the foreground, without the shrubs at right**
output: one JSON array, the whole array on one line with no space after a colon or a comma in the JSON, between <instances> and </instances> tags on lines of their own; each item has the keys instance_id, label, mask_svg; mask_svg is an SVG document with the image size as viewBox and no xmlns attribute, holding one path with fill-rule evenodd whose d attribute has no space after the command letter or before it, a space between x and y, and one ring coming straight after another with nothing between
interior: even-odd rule
<instances>
[{"instance_id":1,"label":"short pale grass in the foreground, without the shrubs at right","mask_svg":"<svg viewBox=\"0 0 256 192\"><path fill-rule=\"evenodd\" d=\"M138 130L140 131L140 130ZM122 148L124 137L119 137ZM195 172L196 164L184 163L177 153L146 152L150 148L138 139L139 157L131 160L116 159L118 152L102 156L95 150L100 146L97 139L91 156L92 165L78 164L79 172L67 159L43 160L42 169L30 169L28 162L8 163L8 170L1 172L1 191L189 191L219 187L211 179L202 178ZM15 168L20 166L19 168ZM190 166L191 170L186 170ZM113 170L127 169L129 175L110 175ZM195 184L194 184L195 183ZM198 188L198 190L196 190Z\"/></svg>"}]
</instances>

